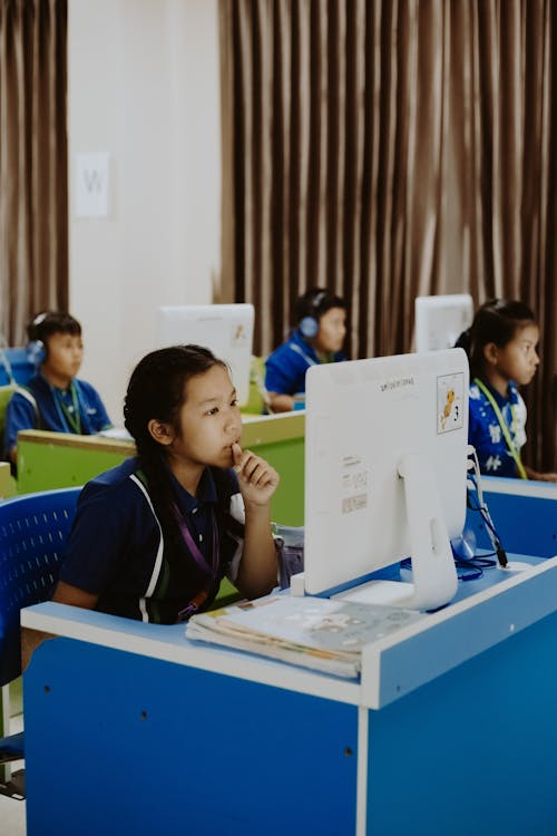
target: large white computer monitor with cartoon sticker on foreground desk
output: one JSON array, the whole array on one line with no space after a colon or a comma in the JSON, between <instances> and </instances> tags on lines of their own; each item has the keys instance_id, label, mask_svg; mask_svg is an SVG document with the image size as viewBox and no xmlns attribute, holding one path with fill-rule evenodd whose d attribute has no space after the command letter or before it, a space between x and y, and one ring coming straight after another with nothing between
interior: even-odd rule
<instances>
[{"instance_id":1,"label":"large white computer monitor with cartoon sticker on foreground desk","mask_svg":"<svg viewBox=\"0 0 557 836\"><path fill-rule=\"evenodd\" d=\"M328 594L410 557L411 584L373 581L350 595L421 610L453 597L468 382L462 349L309 369L305 592Z\"/></svg>"}]
</instances>

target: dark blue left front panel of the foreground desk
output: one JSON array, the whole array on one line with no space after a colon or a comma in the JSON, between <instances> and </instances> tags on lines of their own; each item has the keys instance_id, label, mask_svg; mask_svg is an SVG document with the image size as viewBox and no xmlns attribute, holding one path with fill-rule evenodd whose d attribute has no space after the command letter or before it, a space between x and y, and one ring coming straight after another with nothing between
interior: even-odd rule
<instances>
[{"instance_id":1,"label":"dark blue left front panel of the foreground desk","mask_svg":"<svg viewBox=\"0 0 557 836\"><path fill-rule=\"evenodd\" d=\"M70 639L36 657L28 836L354 833L354 706Z\"/></svg>"}]
</instances>

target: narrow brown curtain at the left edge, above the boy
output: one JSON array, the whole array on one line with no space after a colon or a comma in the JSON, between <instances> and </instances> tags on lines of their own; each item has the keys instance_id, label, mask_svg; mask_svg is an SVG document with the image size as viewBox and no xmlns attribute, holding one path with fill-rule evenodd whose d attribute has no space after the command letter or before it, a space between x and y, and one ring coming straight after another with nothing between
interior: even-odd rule
<instances>
[{"instance_id":1,"label":"narrow brown curtain at the left edge, above the boy","mask_svg":"<svg viewBox=\"0 0 557 836\"><path fill-rule=\"evenodd\" d=\"M66 0L0 0L0 334L68 308Z\"/></svg>"}]
</instances>

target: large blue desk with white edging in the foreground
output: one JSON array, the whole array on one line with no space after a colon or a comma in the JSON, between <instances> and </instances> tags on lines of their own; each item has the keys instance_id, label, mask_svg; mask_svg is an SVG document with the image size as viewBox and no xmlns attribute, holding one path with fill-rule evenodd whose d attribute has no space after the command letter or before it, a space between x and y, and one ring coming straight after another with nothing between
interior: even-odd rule
<instances>
[{"instance_id":1,"label":"large blue desk with white edging in the foreground","mask_svg":"<svg viewBox=\"0 0 557 836\"><path fill-rule=\"evenodd\" d=\"M25 673L28 836L555 836L557 557L340 680L53 603Z\"/></svg>"}]
</instances>

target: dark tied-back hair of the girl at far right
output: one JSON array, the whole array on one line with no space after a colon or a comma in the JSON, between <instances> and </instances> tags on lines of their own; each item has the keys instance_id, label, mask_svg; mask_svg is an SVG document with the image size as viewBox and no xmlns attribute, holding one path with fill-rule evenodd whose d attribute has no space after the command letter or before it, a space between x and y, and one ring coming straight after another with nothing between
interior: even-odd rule
<instances>
[{"instance_id":1,"label":"dark tied-back hair of the girl at far right","mask_svg":"<svg viewBox=\"0 0 557 836\"><path fill-rule=\"evenodd\" d=\"M491 299L478 308L472 324L460 334L455 346L465 349L471 377L477 377L483 369L485 346L495 342L498 348L504 348L515 339L518 330L535 323L534 312L524 302Z\"/></svg>"}]
</instances>

